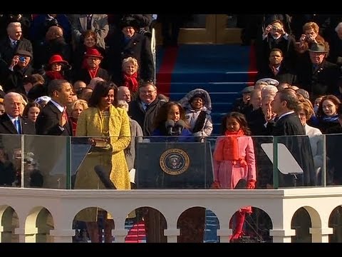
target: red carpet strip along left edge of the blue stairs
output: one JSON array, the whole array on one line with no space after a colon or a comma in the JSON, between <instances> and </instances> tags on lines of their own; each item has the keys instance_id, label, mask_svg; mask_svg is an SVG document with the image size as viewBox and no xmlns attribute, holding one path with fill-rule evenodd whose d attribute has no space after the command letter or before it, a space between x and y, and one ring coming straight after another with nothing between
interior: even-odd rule
<instances>
[{"instance_id":1,"label":"red carpet strip along left edge of the blue stairs","mask_svg":"<svg viewBox=\"0 0 342 257\"><path fill-rule=\"evenodd\" d=\"M157 74L158 93L170 96L172 72L175 69L178 55L177 47L168 47L165 49L165 54L160 64L160 69Z\"/></svg>"}]
</instances>

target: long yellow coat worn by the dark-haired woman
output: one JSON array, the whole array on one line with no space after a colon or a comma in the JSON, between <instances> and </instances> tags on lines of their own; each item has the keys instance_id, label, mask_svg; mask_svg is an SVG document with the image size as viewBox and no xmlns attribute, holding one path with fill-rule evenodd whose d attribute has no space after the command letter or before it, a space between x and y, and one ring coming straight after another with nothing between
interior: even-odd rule
<instances>
[{"instance_id":1,"label":"long yellow coat worn by the dark-haired woman","mask_svg":"<svg viewBox=\"0 0 342 257\"><path fill-rule=\"evenodd\" d=\"M86 156L76 175L76 189L105 188L94 171L96 165L102 165L105 171L110 173L110 181L116 188L130 189L130 176L123 151L130 144L130 120L124 109L115 106L110 106L109 115L108 127L112 150L92 151ZM98 108L90 107L82 111L77 122L76 136L89 136L90 138L103 136L103 121ZM92 209L84 215L78 213L76 219L96 221L97 212L95 208Z\"/></svg>"}]
</instances>

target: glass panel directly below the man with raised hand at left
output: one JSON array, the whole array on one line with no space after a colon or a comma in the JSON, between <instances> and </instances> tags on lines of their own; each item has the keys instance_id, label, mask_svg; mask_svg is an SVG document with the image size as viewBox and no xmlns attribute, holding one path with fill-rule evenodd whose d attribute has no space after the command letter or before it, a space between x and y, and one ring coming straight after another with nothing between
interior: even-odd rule
<instances>
[{"instance_id":1,"label":"glass panel directly below the man with raised hand at left","mask_svg":"<svg viewBox=\"0 0 342 257\"><path fill-rule=\"evenodd\" d=\"M69 188L69 141L67 136L24 136L24 187Z\"/></svg>"}]
</instances>

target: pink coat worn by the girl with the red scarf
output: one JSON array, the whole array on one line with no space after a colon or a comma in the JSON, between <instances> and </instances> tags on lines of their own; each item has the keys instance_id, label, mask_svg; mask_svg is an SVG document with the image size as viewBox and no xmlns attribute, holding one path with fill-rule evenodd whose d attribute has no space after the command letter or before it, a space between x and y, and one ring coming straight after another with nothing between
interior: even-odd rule
<instances>
[{"instance_id":1,"label":"pink coat worn by the girl with the red scarf","mask_svg":"<svg viewBox=\"0 0 342 257\"><path fill-rule=\"evenodd\" d=\"M224 140L224 136L217 138L214 151L217 151L217 145L222 140ZM257 181L252 137L240 136L237 138L237 143L239 145L239 156L245 159L247 166L240 165L239 161L233 164L233 161L214 160L214 180L219 181L221 188L233 189L240 179Z\"/></svg>"}]
</instances>

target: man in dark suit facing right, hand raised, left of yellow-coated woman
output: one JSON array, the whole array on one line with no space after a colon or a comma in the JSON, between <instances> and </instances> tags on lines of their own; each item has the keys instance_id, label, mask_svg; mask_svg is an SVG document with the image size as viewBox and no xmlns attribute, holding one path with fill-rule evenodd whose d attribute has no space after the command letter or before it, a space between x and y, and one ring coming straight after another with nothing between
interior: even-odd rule
<instances>
[{"instance_id":1,"label":"man in dark suit facing right, hand raised, left of yellow-coated woman","mask_svg":"<svg viewBox=\"0 0 342 257\"><path fill-rule=\"evenodd\" d=\"M54 79L48 84L51 101L44 106L36 120L38 135L73 136L71 121L66 115L66 106L73 96L71 84L63 79Z\"/></svg>"}]
</instances>

